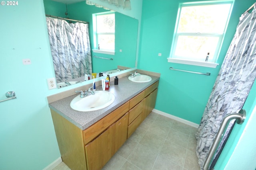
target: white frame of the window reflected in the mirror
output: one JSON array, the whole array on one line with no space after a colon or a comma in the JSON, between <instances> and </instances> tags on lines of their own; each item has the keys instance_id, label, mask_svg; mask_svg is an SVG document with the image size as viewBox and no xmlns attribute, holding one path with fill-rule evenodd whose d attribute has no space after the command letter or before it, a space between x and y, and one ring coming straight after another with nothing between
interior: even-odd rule
<instances>
[{"instance_id":1,"label":"white frame of the window reflected in the mirror","mask_svg":"<svg viewBox=\"0 0 256 170\"><path fill-rule=\"evenodd\" d=\"M97 32L97 16L99 15L106 15L106 14L115 14L115 12L101 12L101 13L96 13L92 15L92 21L93 21L93 33L94 33L94 47L92 49L92 51L94 53L101 53L101 54L108 54L108 55L115 55L115 49L114 51L112 50L102 50L102 49L98 49L98 35L115 35L114 33L98 33Z\"/></svg>"}]
</instances>

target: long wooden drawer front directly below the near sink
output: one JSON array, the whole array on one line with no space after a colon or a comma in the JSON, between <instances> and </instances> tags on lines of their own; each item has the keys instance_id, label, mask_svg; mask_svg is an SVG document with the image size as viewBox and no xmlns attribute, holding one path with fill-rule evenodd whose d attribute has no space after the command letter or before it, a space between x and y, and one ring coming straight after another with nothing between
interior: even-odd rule
<instances>
[{"instance_id":1,"label":"long wooden drawer front directly below the near sink","mask_svg":"<svg viewBox=\"0 0 256 170\"><path fill-rule=\"evenodd\" d=\"M126 102L122 106L118 107L87 129L83 131L84 136L84 144L89 143L95 137L100 135L105 129L107 129L110 125L116 122L120 117L122 117L129 110L129 102Z\"/></svg>"}]
</instances>

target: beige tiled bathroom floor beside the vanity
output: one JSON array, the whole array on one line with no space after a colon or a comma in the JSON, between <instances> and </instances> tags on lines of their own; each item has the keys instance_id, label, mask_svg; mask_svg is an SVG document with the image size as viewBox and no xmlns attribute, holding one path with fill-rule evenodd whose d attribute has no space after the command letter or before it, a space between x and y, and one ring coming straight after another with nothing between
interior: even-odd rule
<instances>
[{"instance_id":1,"label":"beige tiled bathroom floor beside the vanity","mask_svg":"<svg viewBox=\"0 0 256 170\"><path fill-rule=\"evenodd\" d=\"M151 112L102 170L200 170L196 128ZM54 170L70 170L61 162Z\"/></svg>"}]
</instances>

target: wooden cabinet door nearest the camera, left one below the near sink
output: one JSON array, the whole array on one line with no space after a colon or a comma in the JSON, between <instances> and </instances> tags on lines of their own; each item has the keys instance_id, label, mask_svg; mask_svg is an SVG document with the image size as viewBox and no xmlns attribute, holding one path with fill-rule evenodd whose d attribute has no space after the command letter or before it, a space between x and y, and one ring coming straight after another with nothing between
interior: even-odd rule
<instances>
[{"instance_id":1,"label":"wooden cabinet door nearest the camera, left one below the near sink","mask_svg":"<svg viewBox=\"0 0 256 170\"><path fill-rule=\"evenodd\" d=\"M112 126L85 145L88 170L100 170L112 157Z\"/></svg>"}]
</instances>

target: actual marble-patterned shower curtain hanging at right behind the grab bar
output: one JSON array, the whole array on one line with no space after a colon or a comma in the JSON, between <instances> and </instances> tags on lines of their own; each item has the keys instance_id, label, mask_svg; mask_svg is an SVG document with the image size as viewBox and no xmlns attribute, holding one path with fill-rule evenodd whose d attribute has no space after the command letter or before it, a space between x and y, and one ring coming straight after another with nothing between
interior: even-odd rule
<instances>
[{"instance_id":1,"label":"actual marble-patterned shower curtain hanging at right behind the grab bar","mask_svg":"<svg viewBox=\"0 0 256 170\"><path fill-rule=\"evenodd\" d=\"M255 4L256 5L256 4ZM196 154L202 167L223 118L242 109L256 78L256 9L240 17L196 132ZM230 121L214 157L220 154L235 121ZM218 158L218 156L216 157ZM215 163L215 162L214 162ZM214 164L212 163L212 164ZM212 167L212 166L211 166Z\"/></svg>"}]
</instances>

